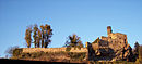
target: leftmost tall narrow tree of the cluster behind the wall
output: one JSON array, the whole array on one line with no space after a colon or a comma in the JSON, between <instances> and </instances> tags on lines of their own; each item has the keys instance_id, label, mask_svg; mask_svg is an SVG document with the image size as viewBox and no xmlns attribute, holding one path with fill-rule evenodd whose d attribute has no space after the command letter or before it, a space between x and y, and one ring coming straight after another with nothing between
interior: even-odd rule
<instances>
[{"instance_id":1,"label":"leftmost tall narrow tree of the cluster behind the wall","mask_svg":"<svg viewBox=\"0 0 142 64\"><path fill-rule=\"evenodd\" d=\"M32 34L32 27L28 27L25 31L25 40L27 43L27 48L31 48L31 43L32 43L31 34Z\"/></svg>"}]
</instances>

